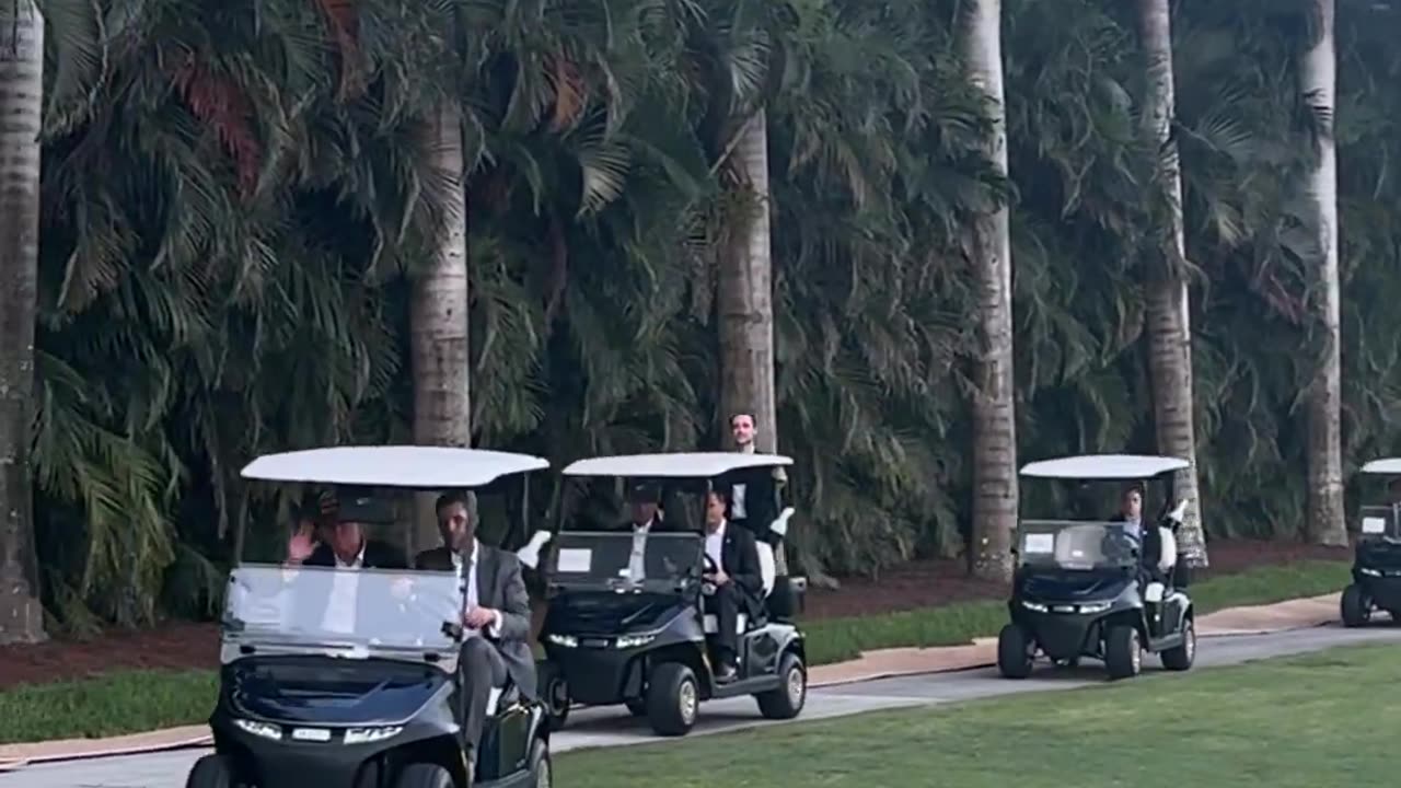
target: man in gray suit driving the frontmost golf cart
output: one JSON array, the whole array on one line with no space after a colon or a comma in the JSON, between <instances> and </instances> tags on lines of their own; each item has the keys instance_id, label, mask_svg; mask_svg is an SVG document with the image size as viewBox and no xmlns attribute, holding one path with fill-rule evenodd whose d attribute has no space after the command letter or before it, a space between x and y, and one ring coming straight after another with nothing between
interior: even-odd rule
<instances>
[{"instance_id":1,"label":"man in gray suit driving the frontmost golf cart","mask_svg":"<svg viewBox=\"0 0 1401 788\"><path fill-rule=\"evenodd\" d=\"M504 687L509 676L523 695L535 695L535 660L527 642L530 597L520 559L476 540L476 495L444 492L437 499L437 519L443 547L419 552L413 566L455 571L467 585L457 708L462 721L462 743L471 767L475 767L492 688Z\"/></svg>"}]
</instances>

